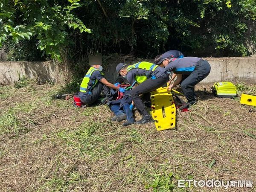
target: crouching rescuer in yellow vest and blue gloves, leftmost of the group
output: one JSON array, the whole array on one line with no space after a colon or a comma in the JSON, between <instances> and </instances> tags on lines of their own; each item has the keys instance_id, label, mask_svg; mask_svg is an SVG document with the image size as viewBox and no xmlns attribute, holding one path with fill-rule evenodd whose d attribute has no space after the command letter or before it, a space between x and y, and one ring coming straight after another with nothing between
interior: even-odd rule
<instances>
[{"instance_id":1,"label":"crouching rescuer in yellow vest and blue gloves, leftmost of the group","mask_svg":"<svg viewBox=\"0 0 256 192\"><path fill-rule=\"evenodd\" d=\"M96 102L101 92L107 97L107 104L113 99L110 88L125 92L122 87L111 84L104 78L101 65L91 65L80 85L79 98L84 104Z\"/></svg>"}]
</instances>

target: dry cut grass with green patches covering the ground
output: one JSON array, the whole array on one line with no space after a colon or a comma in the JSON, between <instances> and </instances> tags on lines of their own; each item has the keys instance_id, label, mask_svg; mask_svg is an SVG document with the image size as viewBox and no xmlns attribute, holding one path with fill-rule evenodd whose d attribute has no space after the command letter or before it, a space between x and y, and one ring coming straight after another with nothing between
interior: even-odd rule
<instances>
[{"instance_id":1,"label":"dry cut grass with green patches covering the ground","mask_svg":"<svg viewBox=\"0 0 256 192\"><path fill-rule=\"evenodd\" d=\"M253 189L227 191L256 191L256 109L215 98L210 86L196 87L201 100L177 112L176 130L160 132L111 122L106 105L52 98L63 84L2 86L0 190L207 192L224 189L178 188L177 180L219 179L253 180ZM239 86L256 94L253 84Z\"/></svg>"}]
</instances>

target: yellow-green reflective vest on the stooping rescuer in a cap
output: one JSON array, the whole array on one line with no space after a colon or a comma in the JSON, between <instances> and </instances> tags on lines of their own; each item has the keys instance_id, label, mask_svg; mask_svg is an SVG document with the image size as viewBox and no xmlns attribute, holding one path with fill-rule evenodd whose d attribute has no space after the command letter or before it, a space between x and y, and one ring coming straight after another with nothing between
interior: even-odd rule
<instances>
[{"instance_id":1,"label":"yellow-green reflective vest on the stooping rescuer in a cap","mask_svg":"<svg viewBox=\"0 0 256 192\"><path fill-rule=\"evenodd\" d=\"M139 74L138 70L136 72L135 80L140 84L143 81L151 78L151 76L149 76L148 72L154 71L157 67L159 67L159 66L156 65L156 64L152 64L152 63L149 63L149 62L146 62L146 61L142 61L142 62L133 64L133 65L129 65L127 67L127 72L129 70L132 70L132 69L142 69L142 70L144 70L143 75Z\"/></svg>"}]
</instances>

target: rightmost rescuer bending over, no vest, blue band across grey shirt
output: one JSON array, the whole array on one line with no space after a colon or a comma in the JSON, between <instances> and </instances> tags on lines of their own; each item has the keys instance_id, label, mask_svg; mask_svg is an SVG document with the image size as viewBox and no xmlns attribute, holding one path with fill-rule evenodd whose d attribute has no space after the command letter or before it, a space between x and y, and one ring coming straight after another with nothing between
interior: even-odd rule
<instances>
[{"instance_id":1,"label":"rightmost rescuer bending over, no vest, blue band across grey shirt","mask_svg":"<svg viewBox=\"0 0 256 192\"><path fill-rule=\"evenodd\" d=\"M169 89L180 84L182 75L188 75L186 79L183 79L180 87L188 100L186 108L194 105L197 99L194 86L209 75L211 66L208 61L198 57L184 57L177 59L160 57L155 60L155 63L160 67L164 67L167 72L173 71L177 74L177 79L169 86Z\"/></svg>"}]
</instances>

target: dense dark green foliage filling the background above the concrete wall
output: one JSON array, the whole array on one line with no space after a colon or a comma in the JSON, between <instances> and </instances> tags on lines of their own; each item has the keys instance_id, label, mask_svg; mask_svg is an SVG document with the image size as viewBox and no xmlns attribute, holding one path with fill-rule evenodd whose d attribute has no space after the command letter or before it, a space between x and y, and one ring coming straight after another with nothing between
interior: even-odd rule
<instances>
[{"instance_id":1,"label":"dense dark green foliage filling the background above the concrete wall","mask_svg":"<svg viewBox=\"0 0 256 192\"><path fill-rule=\"evenodd\" d=\"M256 44L255 20L255 0L2 0L0 46L27 39L16 47L26 52L33 42L40 57L60 61L61 52L152 58L168 49L245 56Z\"/></svg>"}]
</instances>

